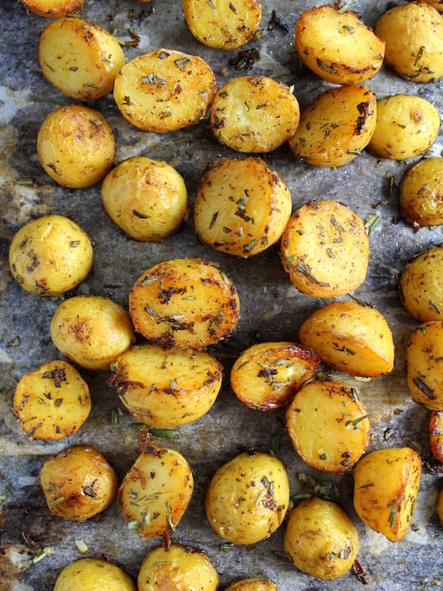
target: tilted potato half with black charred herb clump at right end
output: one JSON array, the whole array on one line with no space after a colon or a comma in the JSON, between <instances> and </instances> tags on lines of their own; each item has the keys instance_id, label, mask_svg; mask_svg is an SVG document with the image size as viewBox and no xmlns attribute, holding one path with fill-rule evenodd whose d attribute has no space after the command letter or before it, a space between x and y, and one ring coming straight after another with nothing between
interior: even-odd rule
<instances>
[{"instance_id":1,"label":"tilted potato half with black charred herb clump at right end","mask_svg":"<svg viewBox=\"0 0 443 591\"><path fill-rule=\"evenodd\" d=\"M305 108L288 141L314 166L343 166L366 148L375 129L375 94L357 85L328 89Z\"/></svg>"}]
</instances>

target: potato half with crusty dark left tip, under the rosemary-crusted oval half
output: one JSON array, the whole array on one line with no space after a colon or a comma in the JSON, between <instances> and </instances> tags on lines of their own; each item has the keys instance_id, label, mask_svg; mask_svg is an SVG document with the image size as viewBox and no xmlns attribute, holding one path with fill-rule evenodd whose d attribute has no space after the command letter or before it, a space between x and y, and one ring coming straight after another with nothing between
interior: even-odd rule
<instances>
[{"instance_id":1,"label":"potato half with crusty dark left tip, under the rosemary-crusted oval half","mask_svg":"<svg viewBox=\"0 0 443 591\"><path fill-rule=\"evenodd\" d=\"M150 343L129 348L112 369L110 384L124 406L142 423L158 428L203 417L217 398L223 374L221 363L206 352Z\"/></svg>"}]
</instances>

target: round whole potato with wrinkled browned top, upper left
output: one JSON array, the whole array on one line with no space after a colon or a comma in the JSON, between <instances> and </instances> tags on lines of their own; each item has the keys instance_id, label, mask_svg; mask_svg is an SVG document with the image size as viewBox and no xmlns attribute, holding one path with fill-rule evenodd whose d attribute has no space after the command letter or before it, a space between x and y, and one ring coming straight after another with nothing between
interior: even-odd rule
<instances>
[{"instance_id":1,"label":"round whole potato with wrinkled browned top, upper left","mask_svg":"<svg viewBox=\"0 0 443 591\"><path fill-rule=\"evenodd\" d=\"M56 183L84 189L101 181L113 166L114 134L98 110L83 105L60 107L41 124L37 154Z\"/></svg>"}]
</instances>

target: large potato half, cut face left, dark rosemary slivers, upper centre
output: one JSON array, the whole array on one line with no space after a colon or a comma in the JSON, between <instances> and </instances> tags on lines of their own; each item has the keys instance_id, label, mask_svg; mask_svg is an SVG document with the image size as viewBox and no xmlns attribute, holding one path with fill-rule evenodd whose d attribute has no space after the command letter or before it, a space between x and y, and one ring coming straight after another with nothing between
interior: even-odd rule
<instances>
[{"instance_id":1,"label":"large potato half, cut face left, dark rosemary slivers, upper centre","mask_svg":"<svg viewBox=\"0 0 443 591\"><path fill-rule=\"evenodd\" d=\"M291 210L288 187L261 158L222 158L200 180L194 226L215 250L248 258L280 239Z\"/></svg>"}]
</instances>

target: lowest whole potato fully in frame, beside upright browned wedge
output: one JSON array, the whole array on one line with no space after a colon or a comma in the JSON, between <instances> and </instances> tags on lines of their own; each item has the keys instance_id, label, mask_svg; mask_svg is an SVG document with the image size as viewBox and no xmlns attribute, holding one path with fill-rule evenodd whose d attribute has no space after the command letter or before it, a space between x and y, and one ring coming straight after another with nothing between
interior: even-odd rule
<instances>
[{"instance_id":1,"label":"lowest whole potato fully in frame, beside upright browned wedge","mask_svg":"<svg viewBox=\"0 0 443 591\"><path fill-rule=\"evenodd\" d=\"M294 566L324 580L345 575L359 553L354 523L338 504L318 497L290 511L284 543Z\"/></svg>"}]
</instances>

